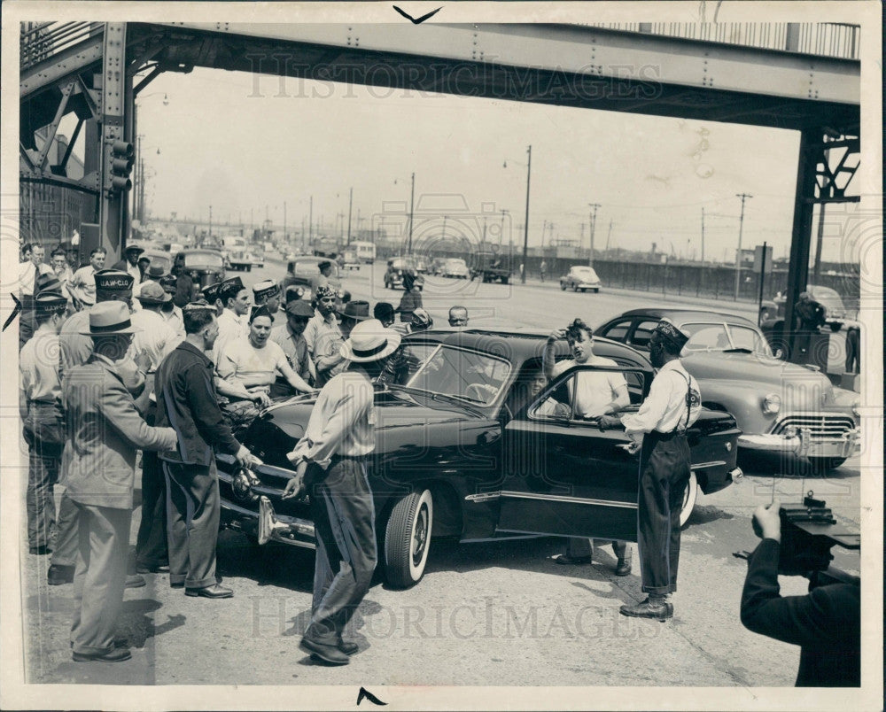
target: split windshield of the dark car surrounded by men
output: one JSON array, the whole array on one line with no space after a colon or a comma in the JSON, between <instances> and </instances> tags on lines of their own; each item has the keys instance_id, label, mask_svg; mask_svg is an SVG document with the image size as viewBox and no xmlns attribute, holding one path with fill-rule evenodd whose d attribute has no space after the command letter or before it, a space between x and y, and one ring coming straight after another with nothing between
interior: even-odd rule
<instances>
[{"instance_id":1,"label":"split windshield of the dark car surrounded by men","mask_svg":"<svg viewBox=\"0 0 886 712\"><path fill-rule=\"evenodd\" d=\"M510 368L508 361L486 353L441 345L418 367L407 386L488 405L498 397Z\"/></svg>"}]
</instances>

